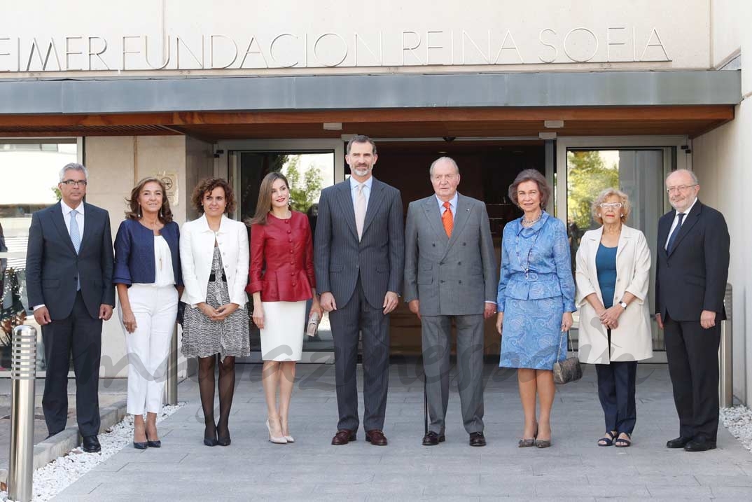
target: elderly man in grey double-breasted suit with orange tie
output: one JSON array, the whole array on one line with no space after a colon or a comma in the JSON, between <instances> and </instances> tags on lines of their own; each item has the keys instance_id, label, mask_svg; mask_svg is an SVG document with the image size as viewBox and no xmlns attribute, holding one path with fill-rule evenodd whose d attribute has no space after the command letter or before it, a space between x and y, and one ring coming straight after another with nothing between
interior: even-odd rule
<instances>
[{"instance_id":1,"label":"elderly man in grey double-breasted suit with orange tie","mask_svg":"<svg viewBox=\"0 0 752 502\"><path fill-rule=\"evenodd\" d=\"M496 313L497 275L488 213L483 202L457 192L453 159L435 160L429 174L435 194L410 203L405 225L405 301L423 332L430 418L423 445L445 439L454 319L462 422L470 446L485 446L483 331L484 319Z\"/></svg>"}]
</instances>

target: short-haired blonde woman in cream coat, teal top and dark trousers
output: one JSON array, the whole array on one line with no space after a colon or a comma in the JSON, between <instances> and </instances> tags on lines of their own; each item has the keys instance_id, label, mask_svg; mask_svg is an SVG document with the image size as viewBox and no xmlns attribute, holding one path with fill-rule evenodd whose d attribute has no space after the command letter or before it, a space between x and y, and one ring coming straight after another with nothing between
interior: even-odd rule
<instances>
[{"instance_id":1,"label":"short-haired blonde woman in cream coat, teal top and dark trousers","mask_svg":"<svg viewBox=\"0 0 752 502\"><path fill-rule=\"evenodd\" d=\"M650 249L644 234L624 225L629 198L605 189L593 201L600 228L585 232L577 250L580 361L596 364L606 432L599 446L632 444L637 411L637 361L653 355L647 289Z\"/></svg>"}]
</instances>

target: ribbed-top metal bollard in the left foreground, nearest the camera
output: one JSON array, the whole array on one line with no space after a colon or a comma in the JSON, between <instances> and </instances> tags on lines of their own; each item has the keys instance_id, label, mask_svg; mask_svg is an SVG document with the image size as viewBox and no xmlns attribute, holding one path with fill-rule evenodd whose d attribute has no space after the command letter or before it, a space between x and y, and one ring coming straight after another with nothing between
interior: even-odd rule
<instances>
[{"instance_id":1,"label":"ribbed-top metal bollard in the left foreground, nearest the camera","mask_svg":"<svg viewBox=\"0 0 752 502\"><path fill-rule=\"evenodd\" d=\"M37 330L16 326L11 341L11 457L8 498L32 500L34 478L34 392Z\"/></svg>"}]
</instances>

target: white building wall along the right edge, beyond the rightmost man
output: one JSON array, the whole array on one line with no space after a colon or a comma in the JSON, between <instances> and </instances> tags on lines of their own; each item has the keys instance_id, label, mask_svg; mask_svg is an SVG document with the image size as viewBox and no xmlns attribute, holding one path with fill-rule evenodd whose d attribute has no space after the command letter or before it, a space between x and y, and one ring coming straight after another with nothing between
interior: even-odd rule
<instances>
[{"instance_id":1,"label":"white building wall along the right edge, beyond the rightmost man","mask_svg":"<svg viewBox=\"0 0 752 502\"><path fill-rule=\"evenodd\" d=\"M752 55L752 4L714 0L713 60L720 65L741 50ZM741 70L743 101L735 108L735 119L693 141L693 168L700 180L700 198L716 207L729 225L731 265L729 283L734 293L734 394L752 403L752 231L747 208L752 186L752 65Z\"/></svg>"}]
</instances>

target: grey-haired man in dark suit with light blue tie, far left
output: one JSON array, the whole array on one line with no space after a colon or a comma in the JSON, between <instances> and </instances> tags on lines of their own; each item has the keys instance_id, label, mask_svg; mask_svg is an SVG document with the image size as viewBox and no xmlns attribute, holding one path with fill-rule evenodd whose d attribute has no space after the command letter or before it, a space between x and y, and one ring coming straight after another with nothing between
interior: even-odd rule
<instances>
[{"instance_id":1,"label":"grey-haired man in dark suit with light blue tie, far left","mask_svg":"<svg viewBox=\"0 0 752 502\"><path fill-rule=\"evenodd\" d=\"M68 366L76 375L76 418L83 450L99 452L99 358L102 320L112 316L113 250L110 215L83 202L86 168L60 171L62 201L32 216L26 288L42 327L47 376L42 409L50 436L68 418Z\"/></svg>"}]
</instances>

